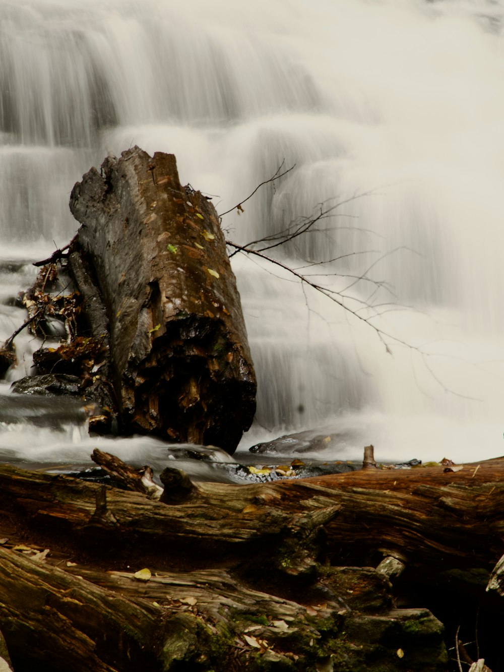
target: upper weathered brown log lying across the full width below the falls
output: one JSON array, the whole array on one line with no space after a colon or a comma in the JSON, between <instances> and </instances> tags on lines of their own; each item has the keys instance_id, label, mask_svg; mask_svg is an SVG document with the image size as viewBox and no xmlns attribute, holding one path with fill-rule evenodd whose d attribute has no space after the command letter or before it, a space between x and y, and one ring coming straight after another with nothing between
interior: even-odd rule
<instances>
[{"instance_id":1,"label":"upper weathered brown log lying across the full width below the falls","mask_svg":"<svg viewBox=\"0 0 504 672\"><path fill-rule=\"evenodd\" d=\"M503 469L501 459L468 464L456 473L439 466L256 485L202 482L196 500L169 507L140 493L108 488L107 502L120 521L118 537L136 536L163 546L176 541L214 551L237 549L263 535L271 538L296 516L330 510L324 524L333 558L344 548L352 562L364 564L380 549L392 556L395 549L398 557L417 563L491 569L504 550ZM99 487L0 468L0 496L17 503L28 521L46 521L55 530L63 526L83 534Z\"/></svg>"}]
</instances>

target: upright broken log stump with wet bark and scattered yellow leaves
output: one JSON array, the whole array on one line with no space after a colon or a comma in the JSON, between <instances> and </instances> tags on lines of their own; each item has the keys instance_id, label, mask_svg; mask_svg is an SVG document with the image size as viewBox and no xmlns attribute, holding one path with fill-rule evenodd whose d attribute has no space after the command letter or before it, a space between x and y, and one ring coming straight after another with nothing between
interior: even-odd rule
<instances>
[{"instance_id":1,"label":"upright broken log stump with wet bark and scattered yellow leaves","mask_svg":"<svg viewBox=\"0 0 504 672\"><path fill-rule=\"evenodd\" d=\"M256 382L212 204L181 186L173 155L134 147L86 173L70 208L82 226L69 265L88 296L90 269L105 306L122 431L233 452Z\"/></svg>"}]
</instances>

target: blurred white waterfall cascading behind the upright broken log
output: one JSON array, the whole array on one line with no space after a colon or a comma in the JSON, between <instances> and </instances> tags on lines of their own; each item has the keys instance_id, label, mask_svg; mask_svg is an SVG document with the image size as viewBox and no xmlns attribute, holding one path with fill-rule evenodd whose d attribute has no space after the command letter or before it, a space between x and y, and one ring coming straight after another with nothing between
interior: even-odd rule
<instances>
[{"instance_id":1,"label":"blurred white waterfall cascading behind the upright broken log","mask_svg":"<svg viewBox=\"0 0 504 672\"><path fill-rule=\"evenodd\" d=\"M175 153L218 212L296 163L224 217L237 243L372 192L277 253L363 252L306 272L343 290L377 262L370 279L397 298L361 281L344 303L411 306L372 325L413 348L384 337L386 353L340 306L235 257L259 380L241 445L327 425L382 459L502 454L503 15L482 0L0 0L0 258L65 245L73 183L132 144ZM24 280L3 274L1 296ZM16 319L0 306L2 339ZM42 443L57 460L58 437ZM29 446L27 427L12 454Z\"/></svg>"}]
</instances>

